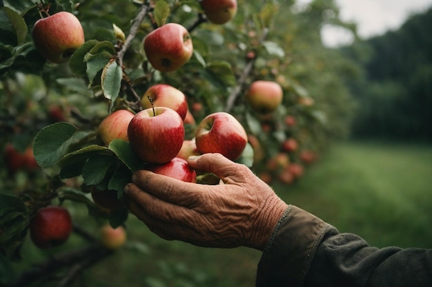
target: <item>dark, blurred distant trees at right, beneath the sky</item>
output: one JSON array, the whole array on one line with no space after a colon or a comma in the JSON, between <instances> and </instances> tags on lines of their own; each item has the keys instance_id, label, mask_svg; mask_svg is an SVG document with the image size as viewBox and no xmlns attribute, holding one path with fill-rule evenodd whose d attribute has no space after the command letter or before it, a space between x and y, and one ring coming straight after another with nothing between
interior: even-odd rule
<instances>
[{"instance_id":1,"label":"dark, blurred distant trees at right, beneath the sky","mask_svg":"<svg viewBox=\"0 0 432 287\"><path fill-rule=\"evenodd\" d=\"M353 134L432 139L431 28L429 9L397 31L344 49L364 69L364 76L348 80L360 105Z\"/></svg>"}]
</instances>

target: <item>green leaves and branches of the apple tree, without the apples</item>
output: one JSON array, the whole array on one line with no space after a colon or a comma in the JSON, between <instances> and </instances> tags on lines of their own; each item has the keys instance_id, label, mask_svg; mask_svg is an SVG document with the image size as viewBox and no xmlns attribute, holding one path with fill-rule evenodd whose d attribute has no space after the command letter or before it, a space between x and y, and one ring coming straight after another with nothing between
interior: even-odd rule
<instances>
[{"instance_id":1,"label":"green leaves and branches of the apple tree, without the apples","mask_svg":"<svg viewBox=\"0 0 432 287\"><path fill-rule=\"evenodd\" d=\"M10 142L18 151L32 147L40 167L0 169L0 202L10 202L0 204L0 251L8 259L21 258L28 220L47 204L84 204L96 222L127 224L126 207L101 211L91 192L115 190L121 199L124 185L143 163L128 142L102 145L97 126L117 109L139 111L141 95L155 83L184 92L197 123L214 111L233 114L248 135L257 138L258 144L251 141L239 160L257 173L266 171L268 162L282 152L291 162L305 164L304 151L320 153L331 140L347 134L352 105L338 74L354 70L353 64L320 42L323 23L343 25L333 0L313 1L301 9L293 1L239 0L239 12L225 25L206 21L199 2L192 0L134 0L121 5L47 0L50 14L73 12L86 35L70 61L59 65L46 62L32 43L40 4L3 3L1 147L5 155ZM335 16L324 17L325 10L333 10ZM148 63L142 42L168 22L188 28L194 52L181 69L163 73ZM248 85L259 79L276 81L284 89L283 104L273 114L256 114L243 98ZM295 123L288 124L287 116ZM186 138L193 137L195 127L186 125ZM287 138L295 138L299 147L282 151ZM281 171L273 172L276 178Z\"/></svg>"}]
</instances>

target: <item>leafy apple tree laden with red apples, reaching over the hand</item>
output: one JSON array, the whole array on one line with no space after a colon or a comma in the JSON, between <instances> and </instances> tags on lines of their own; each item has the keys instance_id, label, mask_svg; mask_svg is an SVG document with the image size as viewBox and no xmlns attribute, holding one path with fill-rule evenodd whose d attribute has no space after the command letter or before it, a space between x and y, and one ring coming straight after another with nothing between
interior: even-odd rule
<instances>
[{"instance_id":1,"label":"leafy apple tree laden with red apples, reaching over the hand","mask_svg":"<svg viewBox=\"0 0 432 287\"><path fill-rule=\"evenodd\" d=\"M233 160L268 183L298 180L331 140L346 134L352 109L337 72L351 66L322 47L320 27L353 27L337 18L333 1L302 7L276 0L3 0L0 6L2 263L25 257L29 226L46 206L73 211L80 204L101 225L127 224L123 187L148 163L129 143L128 123L144 109L156 118L159 105L178 112L177 95L186 101L185 141L194 140L206 116L232 115L246 132ZM329 11L333 16L324 17ZM193 152L199 154L186 155ZM218 180L204 174L197 182ZM95 234L70 228L95 243ZM65 262L90 250L97 262L112 248L92 244L66 253Z\"/></svg>"}]
</instances>

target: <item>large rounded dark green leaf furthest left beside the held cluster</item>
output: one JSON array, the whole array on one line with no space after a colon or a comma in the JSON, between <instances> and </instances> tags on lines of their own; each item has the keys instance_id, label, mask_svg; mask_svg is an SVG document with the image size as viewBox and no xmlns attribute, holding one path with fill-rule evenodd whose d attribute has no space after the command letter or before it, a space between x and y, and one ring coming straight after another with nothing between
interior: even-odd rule
<instances>
[{"instance_id":1,"label":"large rounded dark green leaf furthest left beside the held cluster","mask_svg":"<svg viewBox=\"0 0 432 287\"><path fill-rule=\"evenodd\" d=\"M55 165L66 155L77 130L70 123L55 123L41 129L33 145L37 164L42 168Z\"/></svg>"}]
</instances>

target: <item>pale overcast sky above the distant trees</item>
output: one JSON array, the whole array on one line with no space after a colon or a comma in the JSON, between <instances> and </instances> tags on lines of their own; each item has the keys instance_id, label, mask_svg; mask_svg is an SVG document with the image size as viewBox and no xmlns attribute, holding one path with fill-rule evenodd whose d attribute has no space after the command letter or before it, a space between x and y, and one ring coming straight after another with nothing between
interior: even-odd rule
<instances>
[{"instance_id":1,"label":"pale overcast sky above the distant trees","mask_svg":"<svg viewBox=\"0 0 432 287\"><path fill-rule=\"evenodd\" d=\"M309 3L311 0L297 0ZM357 23L357 32L362 38L384 34L395 30L410 14L432 7L432 0L335 0L344 21ZM326 45L337 45L349 41L350 34L341 30L323 30Z\"/></svg>"}]
</instances>

